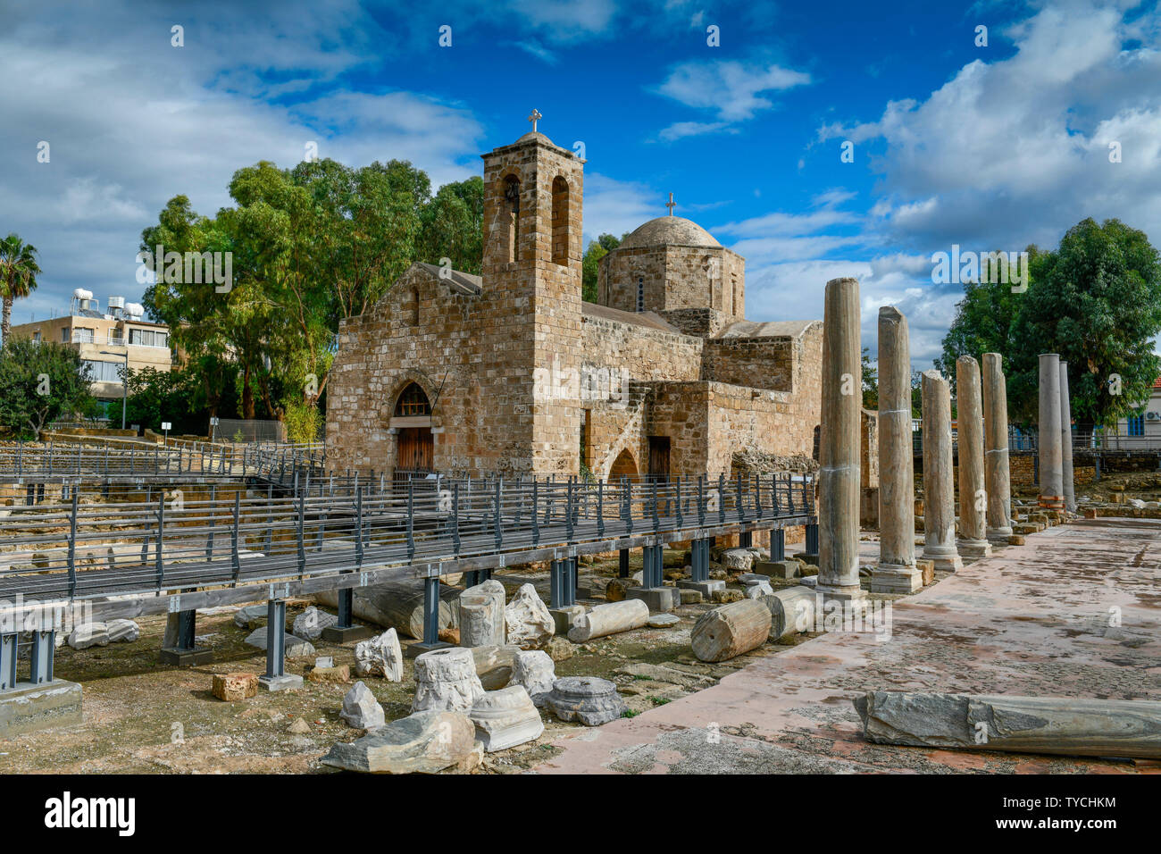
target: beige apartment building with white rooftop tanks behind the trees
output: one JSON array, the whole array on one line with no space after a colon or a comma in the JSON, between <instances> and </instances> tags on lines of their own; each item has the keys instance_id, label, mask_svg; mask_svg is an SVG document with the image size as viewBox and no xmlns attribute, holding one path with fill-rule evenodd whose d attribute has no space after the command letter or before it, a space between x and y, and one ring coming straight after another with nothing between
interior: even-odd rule
<instances>
[{"instance_id":1,"label":"beige apartment building with white rooftop tanks behind the trees","mask_svg":"<svg viewBox=\"0 0 1161 854\"><path fill-rule=\"evenodd\" d=\"M168 326L151 323L143 315L142 306L127 303L123 296L110 296L102 311L92 292L78 288L67 315L22 323L12 328L12 335L75 345L93 374L93 396L108 417L120 417L122 368L128 364L130 371L150 367L167 372L174 361Z\"/></svg>"}]
</instances>

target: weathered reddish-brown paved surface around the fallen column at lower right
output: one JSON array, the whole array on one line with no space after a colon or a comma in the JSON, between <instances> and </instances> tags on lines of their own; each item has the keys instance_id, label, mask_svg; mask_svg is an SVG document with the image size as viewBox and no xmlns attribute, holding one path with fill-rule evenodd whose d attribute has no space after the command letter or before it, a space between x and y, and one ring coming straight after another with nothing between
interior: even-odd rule
<instances>
[{"instance_id":1,"label":"weathered reddish-brown paved surface around the fallen column at lower right","mask_svg":"<svg viewBox=\"0 0 1161 854\"><path fill-rule=\"evenodd\" d=\"M1161 523L1053 528L894 602L885 643L828 632L562 739L564 752L536 772L1158 773L1156 762L871 745L851 698L880 689L1161 699L1159 581Z\"/></svg>"}]
</instances>

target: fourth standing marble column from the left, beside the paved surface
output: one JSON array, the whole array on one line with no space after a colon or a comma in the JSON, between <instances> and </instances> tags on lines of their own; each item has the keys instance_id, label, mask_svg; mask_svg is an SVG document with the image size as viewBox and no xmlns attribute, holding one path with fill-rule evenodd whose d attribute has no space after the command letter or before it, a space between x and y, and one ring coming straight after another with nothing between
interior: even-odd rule
<instances>
[{"instance_id":1,"label":"fourth standing marble column from the left, beside the paved surface","mask_svg":"<svg viewBox=\"0 0 1161 854\"><path fill-rule=\"evenodd\" d=\"M959 424L959 543L964 558L991 554L987 539L988 493L983 487L983 399L980 363L971 356L956 361L956 411Z\"/></svg>"}]
</instances>

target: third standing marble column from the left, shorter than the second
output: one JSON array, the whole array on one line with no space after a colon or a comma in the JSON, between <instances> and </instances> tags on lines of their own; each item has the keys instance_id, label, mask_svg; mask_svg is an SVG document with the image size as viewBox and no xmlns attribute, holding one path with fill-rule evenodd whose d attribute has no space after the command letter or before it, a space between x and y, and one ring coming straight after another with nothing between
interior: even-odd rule
<instances>
[{"instance_id":1,"label":"third standing marble column from the left, shorter than the second","mask_svg":"<svg viewBox=\"0 0 1161 854\"><path fill-rule=\"evenodd\" d=\"M964 568L956 550L956 485L951 453L951 389L938 371L924 371L923 557L936 569Z\"/></svg>"}]
</instances>

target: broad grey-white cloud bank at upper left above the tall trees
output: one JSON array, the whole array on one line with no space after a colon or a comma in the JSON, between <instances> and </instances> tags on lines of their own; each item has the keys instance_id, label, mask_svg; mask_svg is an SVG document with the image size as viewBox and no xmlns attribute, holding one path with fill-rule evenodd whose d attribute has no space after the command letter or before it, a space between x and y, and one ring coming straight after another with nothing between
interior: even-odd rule
<instances>
[{"instance_id":1,"label":"broad grey-white cloud bank at upper left above the tall trees","mask_svg":"<svg viewBox=\"0 0 1161 854\"><path fill-rule=\"evenodd\" d=\"M170 198L183 193L212 215L230 203L237 168L291 166L311 141L320 157L352 165L410 159L435 186L478 174L483 129L461 105L337 86L293 107L264 100L287 91L287 78L313 92L365 62L360 45L380 30L354 3L304 3L293 17L235 14L212 28L182 13L181 49L170 45L173 13L110 5L101 15L17 16L0 33L0 220L37 246L44 271L14 322L64 310L75 287L102 304L109 294L139 300L140 231ZM36 160L41 139L51 145L46 164Z\"/></svg>"}]
</instances>

